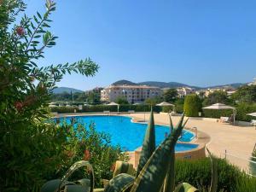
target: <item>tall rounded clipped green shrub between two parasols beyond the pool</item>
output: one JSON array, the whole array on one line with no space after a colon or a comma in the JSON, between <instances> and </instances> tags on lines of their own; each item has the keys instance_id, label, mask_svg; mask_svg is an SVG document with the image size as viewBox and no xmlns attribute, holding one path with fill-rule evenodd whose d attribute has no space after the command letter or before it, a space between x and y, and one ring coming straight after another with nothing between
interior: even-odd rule
<instances>
[{"instance_id":1,"label":"tall rounded clipped green shrub between two parasols beyond the pool","mask_svg":"<svg viewBox=\"0 0 256 192\"><path fill-rule=\"evenodd\" d=\"M201 99L195 94L185 97L184 112L188 117L198 117L201 112Z\"/></svg>"}]
</instances>

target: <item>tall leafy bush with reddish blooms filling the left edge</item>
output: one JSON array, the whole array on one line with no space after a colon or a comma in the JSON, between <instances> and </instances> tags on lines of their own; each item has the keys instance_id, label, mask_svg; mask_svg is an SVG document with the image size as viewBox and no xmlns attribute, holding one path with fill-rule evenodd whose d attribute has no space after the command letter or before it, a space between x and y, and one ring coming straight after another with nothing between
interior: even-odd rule
<instances>
[{"instance_id":1,"label":"tall leafy bush with reddish blooms filling the left edge","mask_svg":"<svg viewBox=\"0 0 256 192\"><path fill-rule=\"evenodd\" d=\"M24 15L18 22L16 18L26 4L22 0L0 1L0 191L38 191L45 179L55 177L72 163L67 152L72 143L78 143L78 138L69 135L69 126L47 123L49 92L65 73L87 77L98 70L90 59L37 66L36 61L44 57L46 48L55 45L56 39L49 32L49 16L55 3L48 0L45 7L44 15ZM104 141L100 136L94 144L105 153L102 155L112 150L111 160L116 160L119 149L105 146ZM74 158L79 158L84 145L75 147ZM106 167L100 169L104 171Z\"/></svg>"}]
</instances>

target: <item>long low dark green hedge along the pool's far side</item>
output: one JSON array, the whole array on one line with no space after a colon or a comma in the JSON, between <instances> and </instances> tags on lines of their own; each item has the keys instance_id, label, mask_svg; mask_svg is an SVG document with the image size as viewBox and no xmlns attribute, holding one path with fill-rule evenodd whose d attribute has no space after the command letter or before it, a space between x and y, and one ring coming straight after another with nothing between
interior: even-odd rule
<instances>
[{"instance_id":1,"label":"long low dark green hedge along the pool's far side","mask_svg":"<svg viewBox=\"0 0 256 192\"><path fill-rule=\"evenodd\" d=\"M117 112L117 106L109 106L109 105L90 105L83 106L82 110L79 110L78 107L52 107L51 112L57 113L74 113L74 109L76 109L79 113L91 113L91 112L103 112L103 111L111 111ZM148 105L119 105L119 112L127 112L128 110L134 110L135 112L149 112L151 107ZM153 107L154 112L159 113L161 111L160 106Z\"/></svg>"}]
</instances>

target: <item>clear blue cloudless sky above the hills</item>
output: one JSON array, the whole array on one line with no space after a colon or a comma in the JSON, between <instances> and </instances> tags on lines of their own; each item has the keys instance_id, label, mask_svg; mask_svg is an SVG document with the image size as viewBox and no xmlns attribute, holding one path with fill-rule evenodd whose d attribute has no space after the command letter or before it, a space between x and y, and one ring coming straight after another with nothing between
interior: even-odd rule
<instances>
[{"instance_id":1,"label":"clear blue cloudless sky above the hills","mask_svg":"<svg viewBox=\"0 0 256 192\"><path fill-rule=\"evenodd\" d=\"M59 37L41 65L90 56L93 78L67 75L59 86L88 90L119 79L207 86L256 77L255 0L56 0ZM26 0L27 14L44 1Z\"/></svg>"}]
</instances>

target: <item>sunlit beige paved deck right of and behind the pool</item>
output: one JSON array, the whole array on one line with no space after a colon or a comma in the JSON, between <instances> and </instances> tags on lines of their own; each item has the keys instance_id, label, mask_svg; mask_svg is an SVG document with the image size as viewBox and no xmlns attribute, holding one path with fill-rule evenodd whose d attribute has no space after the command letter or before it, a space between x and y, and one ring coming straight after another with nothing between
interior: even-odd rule
<instances>
[{"instance_id":1,"label":"sunlit beige paved deck right of and behind the pool","mask_svg":"<svg viewBox=\"0 0 256 192\"><path fill-rule=\"evenodd\" d=\"M135 119L144 119L144 113L131 113L130 116ZM149 114L146 113L145 119L148 118ZM177 124L178 119L180 117L172 117L174 125ZM165 113L155 113L154 121L156 124L169 125L169 117ZM229 125L211 120L190 118L187 127L197 127L200 140L206 143L207 148L213 154L224 158L226 150L227 159L231 163L243 169L248 168L246 160L250 159L256 143L256 130L253 126Z\"/></svg>"}]
</instances>

